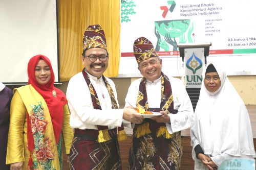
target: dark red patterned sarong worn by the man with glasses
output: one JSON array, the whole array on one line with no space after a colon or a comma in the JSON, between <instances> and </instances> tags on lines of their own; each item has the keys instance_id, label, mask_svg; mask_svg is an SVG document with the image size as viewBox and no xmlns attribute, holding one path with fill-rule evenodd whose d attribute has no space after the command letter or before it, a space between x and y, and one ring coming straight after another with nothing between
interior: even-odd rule
<instances>
[{"instance_id":1,"label":"dark red patterned sarong worn by the man with glasses","mask_svg":"<svg viewBox=\"0 0 256 170\"><path fill-rule=\"evenodd\" d=\"M112 140L97 142L98 130L75 129L70 151L70 169L122 169L116 129L109 130Z\"/></svg>"}]
</instances>

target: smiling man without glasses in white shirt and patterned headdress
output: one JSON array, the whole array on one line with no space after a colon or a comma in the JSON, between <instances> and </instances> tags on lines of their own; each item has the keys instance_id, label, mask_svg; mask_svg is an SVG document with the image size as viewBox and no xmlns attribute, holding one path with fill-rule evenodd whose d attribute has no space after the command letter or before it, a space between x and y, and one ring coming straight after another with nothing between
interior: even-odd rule
<instances>
[{"instance_id":1,"label":"smiling man without glasses in white shirt and patterned headdress","mask_svg":"<svg viewBox=\"0 0 256 170\"><path fill-rule=\"evenodd\" d=\"M180 169L181 130L191 126L193 107L179 79L162 72L162 60L145 37L134 42L134 55L143 78L132 82L125 106L160 112L133 129L130 169Z\"/></svg>"}]
</instances>

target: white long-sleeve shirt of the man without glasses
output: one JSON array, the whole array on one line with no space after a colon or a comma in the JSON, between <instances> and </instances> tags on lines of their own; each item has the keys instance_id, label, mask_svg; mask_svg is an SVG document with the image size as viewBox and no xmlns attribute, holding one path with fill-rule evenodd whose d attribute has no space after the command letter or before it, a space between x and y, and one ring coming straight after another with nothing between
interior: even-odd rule
<instances>
[{"instance_id":1,"label":"white long-sleeve shirt of the man without glasses","mask_svg":"<svg viewBox=\"0 0 256 170\"><path fill-rule=\"evenodd\" d=\"M136 107L137 96L141 79L132 82L125 98L125 107ZM189 96L182 82L179 79L169 77L172 86L174 109L177 114L168 114L170 123L166 128L170 134L190 128L194 121L194 111ZM147 102L150 108L160 108L161 104L161 77L155 82L146 81Z\"/></svg>"}]
</instances>

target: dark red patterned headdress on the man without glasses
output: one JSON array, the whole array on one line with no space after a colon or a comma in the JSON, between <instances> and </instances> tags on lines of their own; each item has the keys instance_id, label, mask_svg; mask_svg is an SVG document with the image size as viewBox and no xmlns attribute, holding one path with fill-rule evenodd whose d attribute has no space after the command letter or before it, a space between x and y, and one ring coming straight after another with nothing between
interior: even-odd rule
<instances>
[{"instance_id":1,"label":"dark red patterned headdress on the man without glasses","mask_svg":"<svg viewBox=\"0 0 256 170\"><path fill-rule=\"evenodd\" d=\"M137 38L134 41L133 51L138 64L150 57L158 57L152 42L145 37Z\"/></svg>"}]
</instances>

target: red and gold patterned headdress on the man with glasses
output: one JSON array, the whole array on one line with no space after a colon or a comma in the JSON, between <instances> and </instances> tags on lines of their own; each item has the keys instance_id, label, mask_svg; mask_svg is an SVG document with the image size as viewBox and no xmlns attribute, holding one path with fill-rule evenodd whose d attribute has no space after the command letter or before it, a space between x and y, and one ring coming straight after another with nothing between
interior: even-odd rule
<instances>
[{"instance_id":1,"label":"red and gold patterned headdress on the man with glasses","mask_svg":"<svg viewBox=\"0 0 256 170\"><path fill-rule=\"evenodd\" d=\"M83 54L90 48L103 48L106 50L106 38L99 25L92 25L83 34Z\"/></svg>"}]
</instances>

